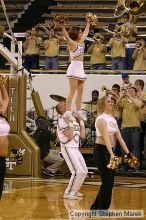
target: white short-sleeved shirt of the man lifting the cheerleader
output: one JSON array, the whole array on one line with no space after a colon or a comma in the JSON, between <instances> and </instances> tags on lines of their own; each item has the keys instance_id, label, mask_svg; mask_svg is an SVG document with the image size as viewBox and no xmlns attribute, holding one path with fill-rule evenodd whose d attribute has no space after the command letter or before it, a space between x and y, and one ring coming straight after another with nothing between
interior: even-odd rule
<instances>
[{"instance_id":1,"label":"white short-sleeved shirt of the man lifting the cheerleader","mask_svg":"<svg viewBox=\"0 0 146 220\"><path fill-rule=\"evenodd\" d=\"M60 117L58 119L58 124L57 124L57 135L60 141L61 147L79 147L79 140L80 140L80 126L79 123L76 121L73 122L73 138L69 140L65 135L64 131L68 129L69 124L68 122L63 118Z\"/></svg>"}]
</instances>

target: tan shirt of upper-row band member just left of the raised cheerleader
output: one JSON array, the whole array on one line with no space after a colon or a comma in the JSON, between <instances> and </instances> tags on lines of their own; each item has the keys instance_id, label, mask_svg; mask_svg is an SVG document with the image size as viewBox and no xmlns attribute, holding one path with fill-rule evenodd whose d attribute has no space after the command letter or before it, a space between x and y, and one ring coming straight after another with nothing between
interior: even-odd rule
<instances>
[{"instance_id":1,"label":"tan shirt of upper-row band member just left of the raised cheerleader","mask_svg":"<svg viewBox=\"0 0 146 220\"><path fill-rule=\"evenodd\" d=\"M47 57L58 56L59 54L59 40L56 37L53 37L50 40L45 40L45 55Z\"/></svg>"}]
</instances>

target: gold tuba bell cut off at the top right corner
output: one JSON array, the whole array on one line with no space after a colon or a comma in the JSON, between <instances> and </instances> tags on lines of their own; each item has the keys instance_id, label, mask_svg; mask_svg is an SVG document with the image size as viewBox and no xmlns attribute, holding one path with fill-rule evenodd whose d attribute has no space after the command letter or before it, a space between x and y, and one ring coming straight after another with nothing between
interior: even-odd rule
<instances>
[{"instance_id":1,"label":"gold tuba bell cut off at the top right corner","mask_svg":"<svg viewBox=\"0 0 146 220\"><path fill-rule=\"evenodd\" d=\"M125 0L125 9L132 15L142 14L146 10L146 0Z\"/></svg>"}]
</instances>

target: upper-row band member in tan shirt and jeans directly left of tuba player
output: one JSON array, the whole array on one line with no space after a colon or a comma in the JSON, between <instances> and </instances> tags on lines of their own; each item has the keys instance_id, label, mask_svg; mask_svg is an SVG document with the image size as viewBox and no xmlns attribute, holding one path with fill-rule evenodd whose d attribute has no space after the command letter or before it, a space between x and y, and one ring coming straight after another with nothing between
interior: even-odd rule
<instances>
[{"instance_id":1,"label":"upper-row band member in tan shirt and jeans directly left of tuba player","mask_svg":"<svg viewBox=\"0 0 146 220\"><path fill-rule=\"evenodd\" d=\"M127 38L123 37L120 29L120 26L116 26L115 35L108 43L108 46L111 47L112 70L125 69L125 44L127 43Z\"/></svg>"}]
</instances>

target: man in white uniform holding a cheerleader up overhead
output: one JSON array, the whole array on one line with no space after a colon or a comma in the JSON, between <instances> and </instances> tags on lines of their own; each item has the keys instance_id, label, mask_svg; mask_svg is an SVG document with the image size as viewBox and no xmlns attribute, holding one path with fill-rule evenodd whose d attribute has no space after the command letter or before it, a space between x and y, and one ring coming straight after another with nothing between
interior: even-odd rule
<instances>
[{"instance_id":1,"label":"man in white uniform holding a cheerleader up overhead","mask_svg":"<svg viewBox=\"0 0 146 220\"><path fill-rule=\"evenodd\" d=\"M80 138L85 137L84 121L77 118L76 121L70 122L62 117L66 111L66 103L63 101L56 106L56 111L61 115L57 125L61 153L72 174L63 198L77 199L83 196L79 190L88 173L84 158L79 151Z\"/></svg>"}]
</instances>

